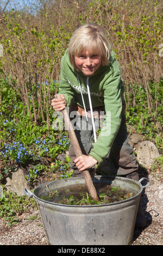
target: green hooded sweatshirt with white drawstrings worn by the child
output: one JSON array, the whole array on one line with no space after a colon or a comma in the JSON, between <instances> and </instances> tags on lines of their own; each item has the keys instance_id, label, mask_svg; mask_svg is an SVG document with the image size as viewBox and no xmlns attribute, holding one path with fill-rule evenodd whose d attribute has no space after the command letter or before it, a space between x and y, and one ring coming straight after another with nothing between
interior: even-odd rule
<instances>
[{"instance_id":1,"label":"green hooded sweatshirt with white drawstrings worn by the child","mask_svg":"<svg viewBox=\"0 0 163 256\"><path fill-rule=\"evenodd\" d=\"M121 81L120 65L113 51L111 51L110 64L99 67L92 76L87 78L83 72L73 68L68 58L68 49L66 50L61 59L59 94L64 94L68 107L72 101L84 107L84 100L85 107L90 108L87 84L89 84L92 108L105 107L104 126L89 154L101 163L109 154L121 125L124 87Z\"/></svg>"}]
</instances>

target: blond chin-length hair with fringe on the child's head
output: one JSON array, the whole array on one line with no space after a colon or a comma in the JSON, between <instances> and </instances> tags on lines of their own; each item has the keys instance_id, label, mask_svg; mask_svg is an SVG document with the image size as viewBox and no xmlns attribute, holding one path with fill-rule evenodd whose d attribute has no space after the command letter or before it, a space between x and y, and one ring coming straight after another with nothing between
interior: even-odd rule
<instances>
[{"instance_id":1,"label":"blond chin-length hair with fringe on the child's head","mask_svg":"<svg viewBox=\"0 0 163 256\"><path fill-rule=\"evenodd\" d=\"M83 25L76 29L71 36L68 46L68 56L71 65L77 69L74 56L79 56L83 50L99 52L102 57L102 66L109 65L111 47L106 38L105 29L96 23Z\"/></svg>"}]
</instances>

